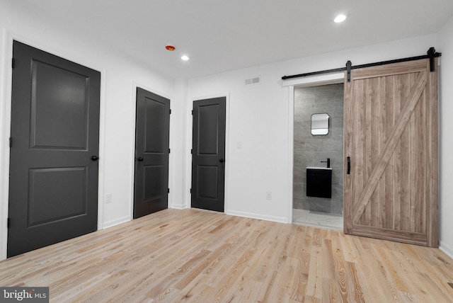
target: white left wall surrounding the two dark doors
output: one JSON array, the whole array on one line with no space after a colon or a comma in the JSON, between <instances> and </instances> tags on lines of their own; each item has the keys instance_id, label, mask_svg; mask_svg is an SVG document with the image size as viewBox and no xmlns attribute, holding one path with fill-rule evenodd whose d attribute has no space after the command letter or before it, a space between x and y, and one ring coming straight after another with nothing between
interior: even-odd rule
<instances>
[{"instance_id":1,"label":"white left wall surrounding the two dark doors","mask_svg":"<svg viewBox=\"0 0 453 303\"><path fill-rule=\"evenodd\" d=\"M173 79L151 72L85 33L65 28L64 24L47 25L45 18L24 15L7 4L4 1L0 10L0 260L6 257L13 39L101 72L99 228L132 217L135 87L142 86L166 98L173 98L174 89ZM171 101L173 107L175 102ZM173 154L170 161L172 165ZM112 202L105 205L107 193L112 194Z\"/></svg>"}]
</instances>

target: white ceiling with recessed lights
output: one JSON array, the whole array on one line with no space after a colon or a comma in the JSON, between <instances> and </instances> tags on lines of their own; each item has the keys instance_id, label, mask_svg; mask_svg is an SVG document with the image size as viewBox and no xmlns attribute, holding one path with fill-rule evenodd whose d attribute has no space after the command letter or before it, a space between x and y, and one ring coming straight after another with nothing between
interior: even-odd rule
<instances>
[{"instance_id":1,"label":"white ceiling with recessed lights","mask_svg":"<svg viewBox=\"0 0 453 303\"><path fill-rule=\"evenodd\" d=\"M173 78L438 33L453 16L453 0L8 2L59 27L92 35ZM333 23L338 13L348 19ZM176 50L166 51L167 44ZM183 54L190 61L183 62Z\"/></svg>"}]
</instances>

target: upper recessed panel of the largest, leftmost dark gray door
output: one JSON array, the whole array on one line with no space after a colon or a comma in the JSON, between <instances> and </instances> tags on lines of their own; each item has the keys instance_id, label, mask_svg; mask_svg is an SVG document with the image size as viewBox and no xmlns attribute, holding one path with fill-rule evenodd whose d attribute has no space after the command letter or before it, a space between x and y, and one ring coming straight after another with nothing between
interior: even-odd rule
<instances>
[{"instance_id":1,"label":"upper recessed panel of the largest, leftmost dark gray door","mask_svg":"<svg viewBox=\"0 0 453 303\"><path fill-rule=\"evenodd\" d=\"M86 76L33 61L31 85L30 146L86 149Z\"/></svg>"}]
</instances>

